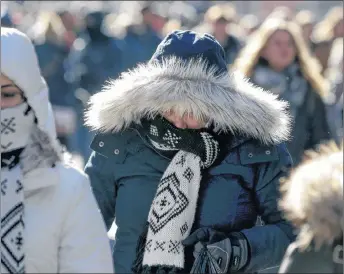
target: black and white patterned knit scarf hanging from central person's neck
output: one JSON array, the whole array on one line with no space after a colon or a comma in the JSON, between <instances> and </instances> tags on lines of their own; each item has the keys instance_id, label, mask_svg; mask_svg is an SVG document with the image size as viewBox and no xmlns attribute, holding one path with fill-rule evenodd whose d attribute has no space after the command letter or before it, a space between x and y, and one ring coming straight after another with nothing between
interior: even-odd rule
<instances>
[{"instance_id":1,"label":"black and white patterned knit scarf hanging from central person's neck","mask_svg":"<svg viewBox=\"0 0 344 274\"><path fill-rule=\"evenodd\" d=\"M161 117L144 128L155 149L176 154L160 179L133 271L175 273L184 269L181 242L194 222L202 170L218 158L219 142L207 131L178 129Z\"/></svg>"}]
</instances>

